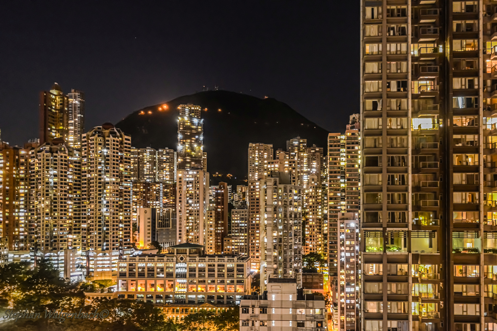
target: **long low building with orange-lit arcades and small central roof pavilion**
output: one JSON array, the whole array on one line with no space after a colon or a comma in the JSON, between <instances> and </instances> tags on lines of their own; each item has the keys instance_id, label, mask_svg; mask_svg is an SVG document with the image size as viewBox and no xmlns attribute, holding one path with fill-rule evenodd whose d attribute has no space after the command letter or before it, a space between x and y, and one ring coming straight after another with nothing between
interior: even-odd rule
<instances>
[{"instance_id":1,"label":"long low building with orange-lit arcades and small central roof pavilion","mask_svg":"<svg viewBox=\"0 0 497 331\"><path fill-rule=\"evenodd\" d=\"M227 308L250 292L249 261L206 255L204 246L192 243L169 246L165 254L130 256L119 261L117 297L152 302L168 315L174 308L175 317L195 308Z\"/></svg>"}]
</instances>

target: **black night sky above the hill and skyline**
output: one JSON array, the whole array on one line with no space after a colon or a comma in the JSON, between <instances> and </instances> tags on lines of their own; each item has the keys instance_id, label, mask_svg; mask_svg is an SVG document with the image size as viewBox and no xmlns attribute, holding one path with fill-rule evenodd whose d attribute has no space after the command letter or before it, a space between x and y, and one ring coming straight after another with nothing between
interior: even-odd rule
<instances>
[{"instance_id":1,"label":"black night sky above the hill and skyline","mask_svg":"<svg viewBox=\"0 0 497 331\"><path fill-rule=\"evenodd\" d=\"M330 131L359 110L359 1L5 1L2 140L37 137L38 92L86 94L86 129L212 88L269 95Z\"/></svg>"}]
</instances>

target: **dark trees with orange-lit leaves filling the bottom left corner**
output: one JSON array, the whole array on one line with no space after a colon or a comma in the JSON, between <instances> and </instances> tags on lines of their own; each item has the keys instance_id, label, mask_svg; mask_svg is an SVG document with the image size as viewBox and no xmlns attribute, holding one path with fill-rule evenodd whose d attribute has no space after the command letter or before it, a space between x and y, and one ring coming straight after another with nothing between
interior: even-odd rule
<instances>
[{"instance_id":1,"label":"dark trees with orange-lit leaves filling the bottom left corner","mask_svg":"<svg viewBox=\"0 0 497 331\"><path fill-rule=\"evenodd\" d=\"M201 310L185 317L184 322L166 319L161 309L141 300L98 298L84 305L85 290L105 290L111 280L83 284L70 283L46 261L35 268L29 263L12 263L0 267L0 313L6 309L41 313L36 320L4 321L10 331L236 331L239 308L221 314ZM93 313L108 311L98 319L44 318L45 311ZM2 329L0 328L0 329ZM3 329L2 329L3 330Z\"/></svg>"}]
</instances>

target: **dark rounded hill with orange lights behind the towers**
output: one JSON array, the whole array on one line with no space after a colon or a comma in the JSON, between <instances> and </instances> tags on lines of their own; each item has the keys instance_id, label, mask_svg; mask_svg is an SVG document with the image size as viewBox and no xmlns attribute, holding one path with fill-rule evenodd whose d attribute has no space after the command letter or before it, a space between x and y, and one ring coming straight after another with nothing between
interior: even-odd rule
<instances>
[{"instance_id":1,"label":"dark rounded hill with orange lights behind the towers","mask_svg":"<svg viewBox=\"0 0 497 331\"><path fill-rule=\"evenodd\" d=\"M213 177L216 172L230 173L236 182L247 178L249 142L272 143L274 150L285 150L287 139L300 136L307 138L308 145L326 149L328 132L285 103L229 91L181 96L167 102L167 110L159 110L162 105L149 106L128 115L116 127L131 135L134 147L176 149L177 107L188 103L207 108L202 118L211 185L226 179Z\"/></svg>"}]
</instances>

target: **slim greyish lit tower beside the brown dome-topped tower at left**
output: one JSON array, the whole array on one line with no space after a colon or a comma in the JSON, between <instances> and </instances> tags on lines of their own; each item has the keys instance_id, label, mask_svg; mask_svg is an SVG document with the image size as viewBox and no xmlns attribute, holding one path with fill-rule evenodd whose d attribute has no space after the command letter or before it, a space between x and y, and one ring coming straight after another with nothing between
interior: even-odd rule
<instances>
[{"instance_id":1,"label":"slim greyish lit tower beside the brown dome-topped tower at left","mask_svg":"<svg viewBox=\"0 0 497 331\"><path fill-rule=\"evenodd\" d=\"M81 149L84 133L84 92L75 89L68 93L68 139L69 147Z\"/></svg>"}]
</instances>

